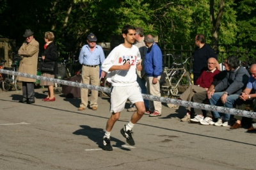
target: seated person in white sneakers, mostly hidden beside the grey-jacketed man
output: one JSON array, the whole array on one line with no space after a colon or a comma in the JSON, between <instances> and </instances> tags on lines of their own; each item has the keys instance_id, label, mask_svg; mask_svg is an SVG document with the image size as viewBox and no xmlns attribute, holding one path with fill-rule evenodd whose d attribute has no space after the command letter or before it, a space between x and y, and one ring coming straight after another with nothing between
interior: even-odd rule
<instances>
[{"instance_id":1,"label":"seated person in white sneakers, mostly hidden beside the grey-jacketed man","mask_svg":"<svg viewBox=\"0 0 256 170\"><path fill-rule=\"evenodd\" d=\"M211 98L211 95L209 95L209 93L212 91L212 89L214 89L214 87L221 82L227 75L227 72L229 70L228 66L227 66L227 59L225 59L225 63L223 63L223 65L225 66L225 70L218 73L215 77L214 77L214 81L212 82L210 88L207 91L201 91L196 93L192 98L191 101L192 102L196 102L199 104L202 103L209 103L209 99ZM196 115L196 116L195 116ZM191 123L200 123L202 125L213 125L214 121L212 119L212 114L210 111L205 111L205 110L201 110L201 109L196 109L196 108L191 108Z\"/></svg>"}]
</instances>

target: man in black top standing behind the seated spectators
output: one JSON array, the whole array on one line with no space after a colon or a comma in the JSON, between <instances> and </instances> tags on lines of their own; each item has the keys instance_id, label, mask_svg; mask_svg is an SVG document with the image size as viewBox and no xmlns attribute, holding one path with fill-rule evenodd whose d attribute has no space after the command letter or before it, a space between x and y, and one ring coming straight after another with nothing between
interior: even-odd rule
<instances>
[{"instance_id":1,"label":"man in black top standing behind the seated spectators","mask_svg":"<svg viewBox=\"0 0 256 170\"><path fill-rule=\"evenodd\" d=\"M202 34L198 34L195 37L195 45L198 47L194 54L194 62L193 62L193 74L194 74L194 83L200 77L201 73L204 70L207 70L207 60L209 58L216 58L214 54L214 50L205 43L205 36Z\"/></svg>"}]
</instances>

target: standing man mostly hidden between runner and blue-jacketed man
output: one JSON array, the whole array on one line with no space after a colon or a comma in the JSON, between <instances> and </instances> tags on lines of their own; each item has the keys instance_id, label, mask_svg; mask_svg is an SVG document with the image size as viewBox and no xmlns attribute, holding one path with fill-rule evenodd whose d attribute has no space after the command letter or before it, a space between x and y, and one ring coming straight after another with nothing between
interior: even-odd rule
<instances>
[{"instance_id":1,"label":"standing man mostly hidden between runner and blue-jacketed man","mask_svg":"<svg viewBox=\"0 0 256 170\"><path fill-rule=\"evenodd\" d=\"M136 27L136 35L135 35L135 42L134 45L136 45L140 50L140 56L141 56L141 65L144 63L144 58L147 53L147 47L144 42L144 33L142 27ZM142 69L141 71L137 70L137 82L141 88L141 93L147 94L147 87L146 87L146 79L145 79L145 72ZM149 108L148 106L148 100L144 100L144 104L146 107L146 110ZM136 111L136 107L134 104L131 104L131 108L129 108L127 111L134 112Z\"/></svg>"}]
</instances>

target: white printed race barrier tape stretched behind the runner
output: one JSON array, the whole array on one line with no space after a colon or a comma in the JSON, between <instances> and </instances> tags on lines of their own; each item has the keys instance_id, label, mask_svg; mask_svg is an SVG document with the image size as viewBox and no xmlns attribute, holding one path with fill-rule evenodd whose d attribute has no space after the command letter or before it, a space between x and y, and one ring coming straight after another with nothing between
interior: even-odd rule
<instances>
[{"instance_id":1,"label":"white printed race barrier tape stretched behind the runner","mask_svg":"<svg viewBox=\"0 0 256 170\"><path fill-rule=\"evenodd\" d=\"M49 78L49 77L43 77L40 75L32 75L32 74L28 74L28 73L13 72L13 71L4 70L4 69L0 69L0 73L6 73L8 75L17 75L20 77L28 77L30 79L36 79L36 80L50 81L50 82L55 82L57 84L74 86L77 88L94 89L97 91L104 91L106 93L111 93L111 88L105 88L102 86L93 86L92 84L83 84L81 82L64 81L61 79L53 79L53 78ZM251 111L244 111L244 110L232 109L232 108L221 107L221 106L216 106L216 105L209 105L209 104L200 104L200 103L196 103L196 102L188 102L185 100L179 100L179 99L174 99L174 98L156 97L156 96L147 95L147 94L142 94L142 96L145 100L152 100L152 101L163 102L163 103L168 103L168 104L182 105L184 107L193 107L196 109L203 109L203 110L207 110L207 111L223 112L223 113L227 113L227 114L234 114L237 116L243 116L243 117L248 117L248 118L256 118L256 112L251 112Z\"/></svg>"}]
</instances>

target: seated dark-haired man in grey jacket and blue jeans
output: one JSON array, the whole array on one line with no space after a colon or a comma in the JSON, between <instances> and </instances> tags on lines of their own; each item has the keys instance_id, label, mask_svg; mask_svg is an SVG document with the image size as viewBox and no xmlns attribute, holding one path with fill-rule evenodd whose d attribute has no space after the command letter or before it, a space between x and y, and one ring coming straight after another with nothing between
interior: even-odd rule
<instances>
[{"instance_id":1,"label":"seated dark-haired man in grey jacket and blue jeans","mask_svg":"<svg viewBox=\"0 0 256 170\"><path fill-rule=\"evenodd\" d=\"M230 72L228 72L227 76L209 93L211 94L210 104L233 108L239 94L241 94L245 88L250 74L243 66L239 66L239 59L236 56L228 56L227 65ZM228 125L230 114L217 111L212 111L212 114L214 118L218 119L214 125L230 127L230 125Z\"/></svg>"}]
</instances>

